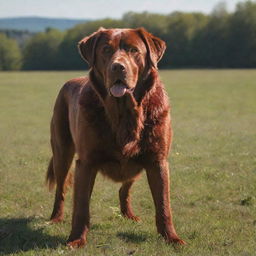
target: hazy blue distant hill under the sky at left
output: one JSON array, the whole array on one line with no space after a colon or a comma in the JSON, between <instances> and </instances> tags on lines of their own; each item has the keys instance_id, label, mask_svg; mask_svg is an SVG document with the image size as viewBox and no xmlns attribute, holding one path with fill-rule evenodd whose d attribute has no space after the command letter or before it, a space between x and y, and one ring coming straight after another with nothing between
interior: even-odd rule
<instances>
[{"instance_id":1,"label":"hazy blue distant hill under the sky at left","mask_svg":"<svg viewBox=\"0 0 256 256\"><path fill-rule=\"evenodd\" d=\"M30 32L45 31L46 28L66 30L73 26L90 21L89 19L59 19L42 17L0 18L0 29L27 30Z\"/></svg>"}]
</instances>

